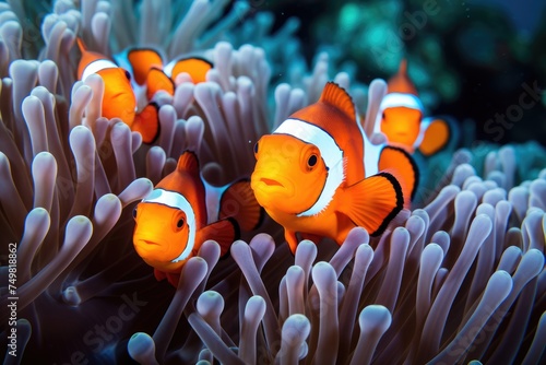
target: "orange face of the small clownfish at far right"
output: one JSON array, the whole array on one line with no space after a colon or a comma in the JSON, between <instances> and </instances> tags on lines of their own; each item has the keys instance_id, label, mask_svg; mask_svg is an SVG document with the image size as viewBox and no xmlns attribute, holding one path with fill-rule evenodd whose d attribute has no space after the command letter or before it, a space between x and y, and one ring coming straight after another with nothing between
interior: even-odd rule
<instances>
[{"instance_id":1,"label":"orange face of the small clownfish at far right","mask_svg":"<svg viewBox=\"0 0 546 365\"><path fill-rule=\"evenodd\" d=\"M413 148L420 130L422 113L406 107L388 108L383 111L381 132L390 143Z\"/></svg>"}]
</instances>

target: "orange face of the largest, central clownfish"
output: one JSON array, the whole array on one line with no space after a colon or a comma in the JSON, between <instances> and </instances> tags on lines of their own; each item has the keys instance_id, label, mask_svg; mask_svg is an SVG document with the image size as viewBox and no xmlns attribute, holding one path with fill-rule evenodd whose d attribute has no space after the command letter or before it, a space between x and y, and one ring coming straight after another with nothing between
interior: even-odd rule
<instances>
[{"instance_id":1,"label":"orange face of the largest, central clownfish","mask_svg":"<svg viewBox=\"0 0 546 365\"><path fill-rule=\"evenodd\" d=\"M266 210L297 214L319 199L328 168L319 149L292 136L262 137L251 176L256 199Z\"/></svg>"}]
</instances>

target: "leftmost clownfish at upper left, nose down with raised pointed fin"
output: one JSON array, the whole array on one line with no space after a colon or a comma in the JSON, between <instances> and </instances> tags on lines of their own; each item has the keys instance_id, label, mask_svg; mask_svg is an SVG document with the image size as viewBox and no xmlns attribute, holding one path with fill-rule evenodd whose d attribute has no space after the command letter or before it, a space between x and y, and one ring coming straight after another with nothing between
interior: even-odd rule
<instances>
[{"instance_id":1,"label":"leftmost clownfish at upper left, nose down with raised pointed fin","mask_svg":"<svg viewBox=\"0 0 546 365\"><path fill-rule=\"evenodd\" d=\"M96 73L104 81L103 117L121 119L131 130L141 133L144 143L152 143L159 134L157 105L151 103L136 113L136 98L131 87L130 73L108 57L86 50L80 38L78 47L82 54L78 79L83 81L90 74Z\"/></svg>"}]
</instances>

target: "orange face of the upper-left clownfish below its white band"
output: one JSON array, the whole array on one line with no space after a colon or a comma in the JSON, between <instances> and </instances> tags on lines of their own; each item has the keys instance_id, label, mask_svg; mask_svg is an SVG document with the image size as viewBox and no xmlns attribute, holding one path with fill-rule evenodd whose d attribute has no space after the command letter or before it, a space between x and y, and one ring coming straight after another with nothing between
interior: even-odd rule
<instances>
[{"instance_id":1,"label":"orange face of the upper-left clownfish below its white band","mask_svg":"<svg viewBox=\"0 0 546 365\"><path fill-rule=\"evenodd\" d=\"M105 84L103 117L120 118L131 127L136 110L136 98L131 87L129 73L122 68L104 69L97 73Z\"/></svg>"}]
</instances>

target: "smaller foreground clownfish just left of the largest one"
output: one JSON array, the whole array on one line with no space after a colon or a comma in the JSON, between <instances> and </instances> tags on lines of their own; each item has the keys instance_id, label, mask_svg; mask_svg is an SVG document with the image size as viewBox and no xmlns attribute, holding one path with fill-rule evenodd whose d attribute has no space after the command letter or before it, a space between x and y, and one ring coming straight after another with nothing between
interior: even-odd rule
<instances>
[{"instance_id":1,"label":"smaller foreground clownfish just left of the largest one","mask_svg":"<svg viewBox=\"0 0 546 365\"><path fill-rule=\"evenodd\" d=\"M248 179L212 187L201 178L195 154L186 151L176 169L136 204L133 217L136 254L158 281L176 287L181 268L205 240L216 240L225 255L240 231L260 225L263 210Z\"/></svg>"}]
</instances>

